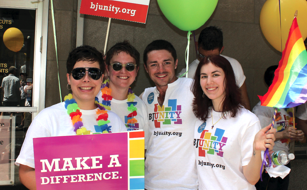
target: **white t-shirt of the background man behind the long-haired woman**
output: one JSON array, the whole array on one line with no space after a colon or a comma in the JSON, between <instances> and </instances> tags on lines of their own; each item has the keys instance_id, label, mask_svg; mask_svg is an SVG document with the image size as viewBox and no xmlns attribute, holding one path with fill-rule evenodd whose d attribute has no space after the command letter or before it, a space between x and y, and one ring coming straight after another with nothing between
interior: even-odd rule
<instances>
[{"instance_id":1,"label":"white t-shirt of the background man behind the long-haired woman","mask_svg":"<svg viewBox=\"0 0 307 190\"><path fill-rule=\"evenodd\" d=\"M235 60L234 58L227 57L227 56L224 56L224 55L220 55L220 56L225 57L230 62L231 66L232 66L232 69L233 69L233 72L235 73L235 80L237 82L237 85L239 87L241 87L243 85L245 79L246 79L246 77L244 76L241 64L237 60ZM189 64L188 78L191 78L191 79L194 78L194 75L195 75L196 68L197 68L198 64L199 64L199 60L198 59L194 60L191 64ZM183 68L181 70L181 72L177 75L177 77L180 77L186 71L187 71L187 69ZM182 76L182 77L185 77L185 75Z\"/></svg>"}]
</instances>

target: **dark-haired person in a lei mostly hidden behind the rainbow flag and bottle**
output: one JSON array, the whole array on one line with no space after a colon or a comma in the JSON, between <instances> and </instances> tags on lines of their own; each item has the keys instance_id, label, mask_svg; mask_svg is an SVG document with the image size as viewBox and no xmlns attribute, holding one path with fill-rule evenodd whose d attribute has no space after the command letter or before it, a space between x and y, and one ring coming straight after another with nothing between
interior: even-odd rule
<instances>
[{"instance_id":1,"label":"dark-haired person in a lei mostly hidden behind the rainbow flag and bottle","mask_svg":"<svg viewBox=\"0 0 307 190\"><path fill-rule=\"evenodd\" d=\"M266 69L264 73L264 81L267 87L273 82L274 72L277 69L278 65L270 66ZM295 108L294 108L295 109ZM259 101L257 105L253 108L253 113L259 118L261 128L266 127L273 121L275 108L261 106L261 102ZM293 108L282 108L277 110L277 114L275 117L274 128L277 130L275 133L275 145L273 147L273 151L284 150L290 153L289 143L295 140L304 139L304 133L302 130L297 130L297 128L293 127ZM291 140L290 140L291 139ZM290 163L286 166L290 168ZM262 173L262 181L259 180L255 185L257 190L287 190L289 185L289 175L285 178L281 177L270 177L268 173Z\"/></svg>"}]
</instances>

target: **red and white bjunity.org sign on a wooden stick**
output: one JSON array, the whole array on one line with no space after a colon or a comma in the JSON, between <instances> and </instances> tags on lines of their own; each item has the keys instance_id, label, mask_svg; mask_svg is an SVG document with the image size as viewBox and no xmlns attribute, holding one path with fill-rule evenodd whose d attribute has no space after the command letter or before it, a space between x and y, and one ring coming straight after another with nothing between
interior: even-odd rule
<instances>
[{"instance_id":1,"label":"red and white bjunity.org sign on a wooden stick","mask_svg":"<svg viewBox=\"0 0 307 190\"><path fill-rule=\"evenodd\" d=\"M82 0L80 14L146 23L150 0Z\"/></svg>"}]
</instances>

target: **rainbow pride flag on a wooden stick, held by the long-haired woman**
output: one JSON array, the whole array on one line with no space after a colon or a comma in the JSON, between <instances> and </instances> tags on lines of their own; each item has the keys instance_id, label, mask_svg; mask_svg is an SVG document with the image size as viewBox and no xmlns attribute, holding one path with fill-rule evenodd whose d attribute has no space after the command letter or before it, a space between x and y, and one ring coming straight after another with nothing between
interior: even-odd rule
<instances>
[{"instance_id":1,"label":"rainbow pride flag on a wooden stick, held by the long-haired woman","mask_svg":"<svg viewBox=\"0 0 307 190\"><path fill-rule=\"evenodd\" d=\"M264 96L258 97L262 106L277 108L295 107L307 100L307 52L296 17L273 83Z\"/></svg>"}]
</instances>

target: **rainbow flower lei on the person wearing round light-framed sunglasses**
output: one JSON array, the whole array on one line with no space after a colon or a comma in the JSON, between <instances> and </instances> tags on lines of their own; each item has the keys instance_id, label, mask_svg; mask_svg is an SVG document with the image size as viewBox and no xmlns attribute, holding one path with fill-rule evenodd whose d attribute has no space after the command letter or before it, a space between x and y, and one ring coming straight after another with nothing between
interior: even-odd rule
<instances>
[{"instance_id":1,"label":"rainbow flower lei on the person wearing round light-framed sunglasses","mask_svg":"<svg viewBox=\"0 0 307 190\"><path fill-rule=\"evenodd\" d=\"M105 80L102 84L102 98L103 101L102 103L99 103L98 101L96 102L97 105L104 107L107 110L111 110L111 100L112 100L112 96L111 96L111 88L109 88L109 80ZM131 90L131 87L129 87L128 89L128 99L127 99L127 104L128 104L128 111L130 111L131 113L128 114L127 118L131 118L128 119L126 127L128 128L135 128L134 123L137 123L138 120L136 118L134 118L134 116L136 116L137 110L138 108L136 108L135 106L138 104L138 102L134 102L135 99L135 95L133 93L133 91Z\"/></svg>"}]
</instances>

